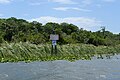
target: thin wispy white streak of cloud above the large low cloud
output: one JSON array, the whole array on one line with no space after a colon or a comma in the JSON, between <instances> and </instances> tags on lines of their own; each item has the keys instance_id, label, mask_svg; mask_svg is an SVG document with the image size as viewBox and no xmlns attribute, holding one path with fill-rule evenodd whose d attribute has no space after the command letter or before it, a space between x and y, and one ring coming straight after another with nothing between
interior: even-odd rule
<instances>
[{"instance_id":1,"label":"thin wispy white streak of cloud above the large low cloud","mask_svg":"<svg viewBox=\"0 0 120 80\"><path fill-rule=\"evenodd\" d=\"M67 10L77 10L77 11L83 11L83 12L90 12L91 10L88 9L82 9L78 7L56 7L53 8L54 10L59 10L59 11L67 11Z\"/></svg>"}]
</instances>

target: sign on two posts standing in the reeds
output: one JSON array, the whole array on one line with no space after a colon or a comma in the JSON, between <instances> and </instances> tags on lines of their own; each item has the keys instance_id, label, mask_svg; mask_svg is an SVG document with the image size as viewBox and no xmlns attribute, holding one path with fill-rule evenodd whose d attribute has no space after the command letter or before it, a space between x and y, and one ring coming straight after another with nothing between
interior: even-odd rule
<instances>
[{"instance_id":1,"label":"sign on two posts standing in the reeds","mask_svg":"<svg viewBox=\"0 0 120 80\"><path fill-rule=\"evenodd\" d=\"M51 53L57 53L57 40L59 40L59 36L57 34L50 34L50 40L52 40Z\"/></svg>"}]
</instances>

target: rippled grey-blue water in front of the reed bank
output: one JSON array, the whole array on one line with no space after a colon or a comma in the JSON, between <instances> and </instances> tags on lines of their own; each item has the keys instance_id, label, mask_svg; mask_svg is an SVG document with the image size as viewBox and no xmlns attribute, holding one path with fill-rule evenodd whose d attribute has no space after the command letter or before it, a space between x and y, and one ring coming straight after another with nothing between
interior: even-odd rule
<instances>
[{"instance_id":1,"label":"rippled grey-blue water in front of the reed bank","mask_svg":"<svg viewBox=\"0 0 120 80\"><path fill-rule=\"evenodd\" d=\"M75 62L0 63L0 80L120 80L120 55Z\"/></svg>"}]
</instances>

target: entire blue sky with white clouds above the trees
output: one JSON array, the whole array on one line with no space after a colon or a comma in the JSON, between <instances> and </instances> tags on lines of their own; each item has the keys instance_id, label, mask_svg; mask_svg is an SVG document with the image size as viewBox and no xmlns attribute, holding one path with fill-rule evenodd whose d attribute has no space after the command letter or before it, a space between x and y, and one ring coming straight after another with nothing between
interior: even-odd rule
<instances>
[{"instance_id":1,"label":"entire blue sky with white clouds above the trees","mask_svg":"<svg viewBox=\"0 0 120 80\"><path fill-rule=\"evenodd\" d=\"M0 18L72 23L98 31L120 33L120 0L0 0Z\"/></svg>"}]
</instances>

